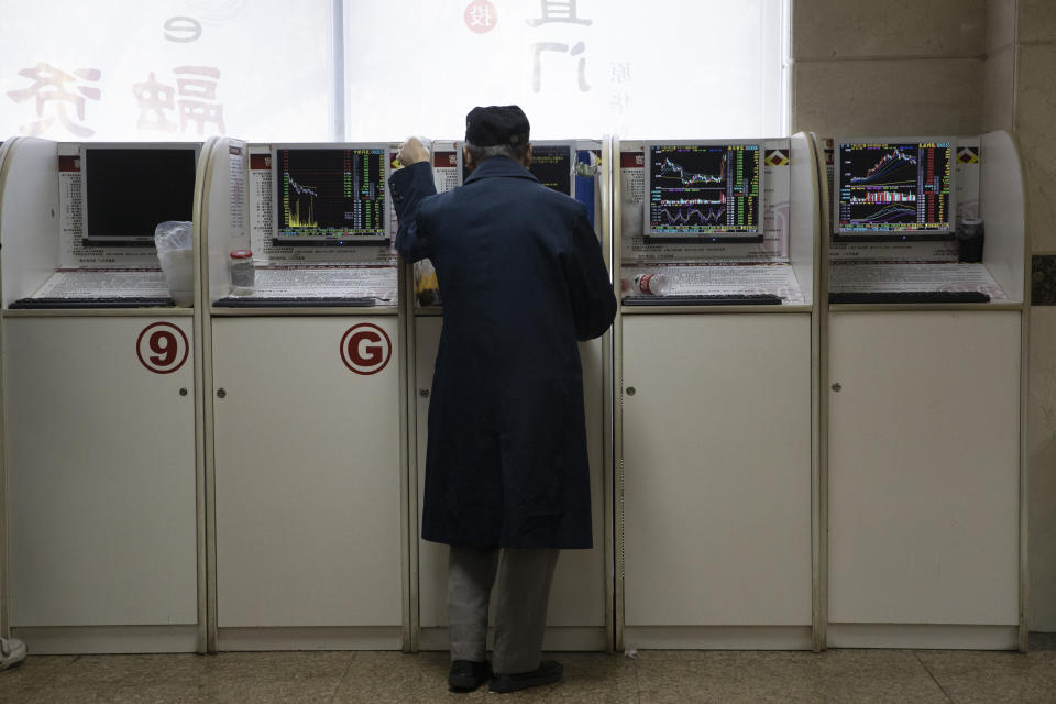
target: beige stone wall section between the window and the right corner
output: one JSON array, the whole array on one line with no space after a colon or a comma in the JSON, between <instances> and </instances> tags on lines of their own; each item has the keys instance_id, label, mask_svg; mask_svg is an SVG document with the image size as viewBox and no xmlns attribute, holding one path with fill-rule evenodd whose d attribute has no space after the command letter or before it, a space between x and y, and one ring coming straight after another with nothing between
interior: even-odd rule
<instances>
[{"instance_id":1,"label":"beige stone wall section between the window and the right corner","mask_svg":"<svg viewBox=\"0 0 1056 704\"><path fill-rule=\"evenodd\" d=\"M793 0L792 132L980 132L986 23L985 0Z\"/></svg>"}]
</instances>

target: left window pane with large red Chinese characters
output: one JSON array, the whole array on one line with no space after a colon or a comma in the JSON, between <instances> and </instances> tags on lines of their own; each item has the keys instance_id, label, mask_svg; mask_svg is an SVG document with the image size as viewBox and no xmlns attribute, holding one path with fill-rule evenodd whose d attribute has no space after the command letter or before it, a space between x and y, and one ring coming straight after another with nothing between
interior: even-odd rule
<instances>
[{"instance_id":1,"label":"left window pane with large red Chinese characters","mask_svg":"<svg viewBox=\"0 0 1056 704\"><path fill-rule=\"evenodd\" d=\"M331 8L330 0L6 3L0 139L330 140Z\"/></svg>"}]
</instances>

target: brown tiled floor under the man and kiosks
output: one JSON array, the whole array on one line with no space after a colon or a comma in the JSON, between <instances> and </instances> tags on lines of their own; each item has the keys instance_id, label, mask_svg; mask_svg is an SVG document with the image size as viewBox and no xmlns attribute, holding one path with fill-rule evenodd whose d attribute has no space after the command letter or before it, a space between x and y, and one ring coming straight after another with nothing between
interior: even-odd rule
<instances>
[{"instance_id":1,"label":"brown tiled floor under the man and kiosks","mask_svg":"<svg viewBox=\"0 0 1056 704\"><path fill-rule=\"evenodd\" d=\"M560 653L563 682L515 694L447 691L447 653L263 652L30 657L0 672L18 704L364 702L1056 702L1056 650Z\"/></svg>"}]
</instances>

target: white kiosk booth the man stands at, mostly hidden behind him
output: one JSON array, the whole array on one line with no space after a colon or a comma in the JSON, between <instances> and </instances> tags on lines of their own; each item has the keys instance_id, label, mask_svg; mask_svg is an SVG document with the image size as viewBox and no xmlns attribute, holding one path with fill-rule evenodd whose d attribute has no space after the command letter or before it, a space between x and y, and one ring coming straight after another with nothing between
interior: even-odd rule
<instances>
[{"instance_id":1,"label":"white kiosk booth the man stands at, mostly hidden behind him","mask_svg":"<svg viewBox=\"0 0 1056 704\"><path fill-rule=\"evenodd\" d=\"M587 206L609 261L609 164L610 145L596 140L534 141L531 172L544 185L569 194ZM460 142L436 142L433 177L438 190L448 190L462 183ZM414 279L414 280L411 280ZM426 261L415 265L408 277L408 299L413 299L413 383L408 389L417 443L411 461L411 485L416 487L413 505L416 518L421 517L425 492L427 418L429 389L440 330L442 306L436 292L436 274ZM594 521L594 548L563 550L558 560L551 587L550 610L543 648L547 650L610 650L613 647L612 614L612 455L609 448L612 408L610 333L580 344L583 362L583 393L586 407L587 442L591 461L591 505ZM418 522L411 528L413 619L417 628L414 649L447 650L447 546L420 539ZM417 591L417 594L414 591ZM493 604L494 606L494 604Z\"/></svg>"}]
</instances>

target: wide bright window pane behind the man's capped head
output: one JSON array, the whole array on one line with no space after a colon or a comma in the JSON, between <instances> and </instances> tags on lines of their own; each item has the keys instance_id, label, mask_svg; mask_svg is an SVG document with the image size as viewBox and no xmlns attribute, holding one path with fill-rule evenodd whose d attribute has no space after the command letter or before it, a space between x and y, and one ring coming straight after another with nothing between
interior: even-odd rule
<instances>
[{"instance_id":1,"label":"wide bright window pane behind the man's capped head","mask_svg":"<svg viewBox=\"0 0 1056 704\"><path fill-rule=\"evenodd\" d=\"M516 102L538 139L777 136L780 0L345 0L348 135L461 138Z\"/></svg>"}]
</instances>

